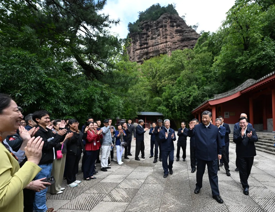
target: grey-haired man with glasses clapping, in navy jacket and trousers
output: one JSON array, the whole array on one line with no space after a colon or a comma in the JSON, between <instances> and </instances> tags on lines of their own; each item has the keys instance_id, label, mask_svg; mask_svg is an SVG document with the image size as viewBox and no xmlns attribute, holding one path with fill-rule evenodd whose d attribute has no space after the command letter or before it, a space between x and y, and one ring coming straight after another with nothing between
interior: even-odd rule
<instances>
[{"instance_id":1,"label":"grey-haired man with glasses clapping, in navy jacket and trousers","mask_svg":"<svg viewBox=\"0 0 275 212\"><path fill-rule=\"evenodd\" d=\"M169 119L164 120L165 128L160 131L160 142L162 147L162 168L164 170L163 177L166 178L168 173L173 174L173 163L174 163L174 142L176 140L175 131L170 128ZM169 156L169 165L167 159ZM169 169L169 172L168 172Z\"/></svg>"}]
</instances>

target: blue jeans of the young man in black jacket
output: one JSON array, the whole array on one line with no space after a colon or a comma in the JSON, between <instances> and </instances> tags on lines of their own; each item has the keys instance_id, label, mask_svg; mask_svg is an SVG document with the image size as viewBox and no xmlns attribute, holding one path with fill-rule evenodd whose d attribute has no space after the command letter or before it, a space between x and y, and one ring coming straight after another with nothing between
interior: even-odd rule
<instances>
[{"instance_id":1,"label":"blue jeans of the young man in black jacket","mask_svg":"<svg viewBox=\"0 0 275 212\"><path fill-rule=\"evenodd\" d=\"M44 177L50 177L51 176L51 170L52 170L52 163L42 164L38 165L42 170L35 176L34 180L38 180ZM48 210L46 206L46 193L47 193L48 187L44 189L43 191L36 192L34 196L34 211L37 212L45 212Z\"/></svg>"}]
</instances>

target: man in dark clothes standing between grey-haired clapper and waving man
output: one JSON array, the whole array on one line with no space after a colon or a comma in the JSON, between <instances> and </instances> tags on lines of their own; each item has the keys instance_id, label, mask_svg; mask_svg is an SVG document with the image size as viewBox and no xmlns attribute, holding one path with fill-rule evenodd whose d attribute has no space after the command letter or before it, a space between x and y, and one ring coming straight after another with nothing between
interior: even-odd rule
<instances>
[{"instance_id":1,"label":"man in dark clothes standing between grey-haired clapper and waving man","mask_svg":"<svg viewBox=\"0 0 275 212\"><path fill-rule=\"evenodd\" d=\"M180 147L182 147L182 158L185 161L186 158L186 141L187 141L187 132L188 129L185 127L185 122L181 124L181 128L178 129L178 142L177 142L177 161L180 160Z\"/></svg>"}]
</instances>

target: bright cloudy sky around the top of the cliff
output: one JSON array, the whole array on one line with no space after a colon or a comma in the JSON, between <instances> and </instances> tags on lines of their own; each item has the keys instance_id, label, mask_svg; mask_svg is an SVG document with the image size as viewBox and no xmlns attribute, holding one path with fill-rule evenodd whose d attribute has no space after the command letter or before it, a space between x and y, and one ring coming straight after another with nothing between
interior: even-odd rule
<instances>
[{"instance_id":1,"label":"bright cloudy sky around the top of the cliff","mask_svg":"<svg viewBox=\"0 0 275 212\"><path fill-rule=\"evenodd\" d=\"M138 19L138 12L144 11L153 4L161 6L175 3L179 16L185 15L187 25L199 23L197 32L215 32L226 19L226 12L234 5L235 0L107 0L103 13L111 19L120 19L120 24L113 26L111 32L126 38L128 23Z\"/></svg>"}]
</instances>

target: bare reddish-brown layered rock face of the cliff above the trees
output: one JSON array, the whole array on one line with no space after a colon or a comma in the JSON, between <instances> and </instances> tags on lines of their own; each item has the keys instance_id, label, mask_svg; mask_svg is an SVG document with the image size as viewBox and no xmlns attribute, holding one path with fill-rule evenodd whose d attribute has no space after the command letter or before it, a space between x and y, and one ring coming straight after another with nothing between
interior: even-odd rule
<instances>
[{"instance_id":1,"label":"bare reddish-brown layered rock face of the cliff above the trees","mask_svg":"<svg viewBox=\"0 0 275 212\"><path fill-rule=\"evenodd\" d=\"M164 13L156 21L140 24L142 32L130 33L132 39L127 52L132 62L142 63L160 54L169 54L176 49L194 48L200 35L175 14Z\"/></svg>"}]
</instances>

